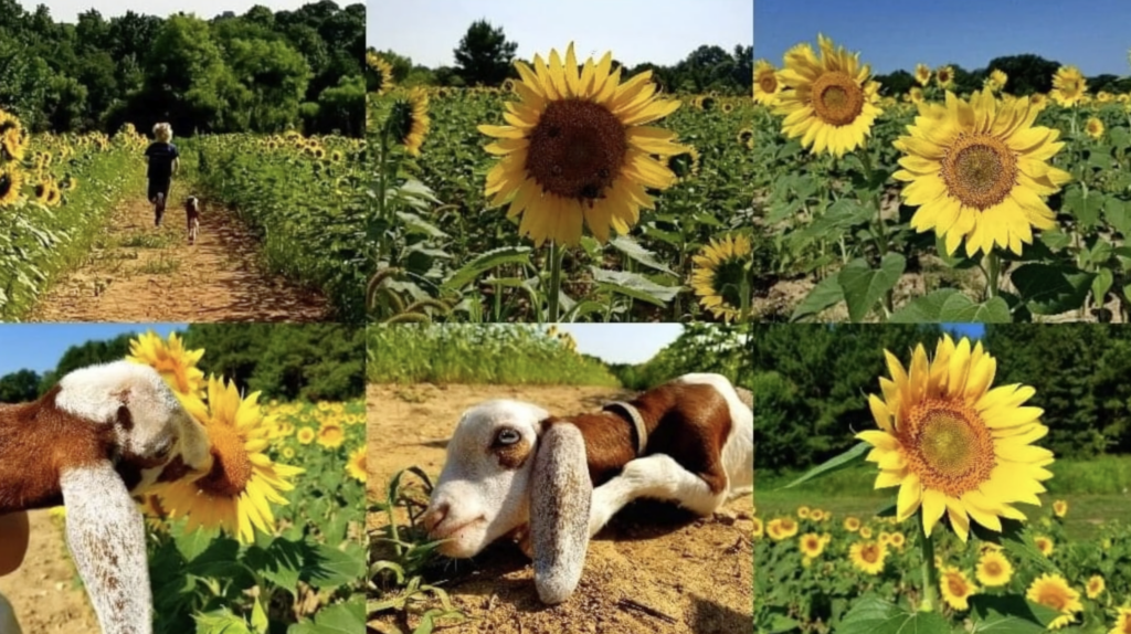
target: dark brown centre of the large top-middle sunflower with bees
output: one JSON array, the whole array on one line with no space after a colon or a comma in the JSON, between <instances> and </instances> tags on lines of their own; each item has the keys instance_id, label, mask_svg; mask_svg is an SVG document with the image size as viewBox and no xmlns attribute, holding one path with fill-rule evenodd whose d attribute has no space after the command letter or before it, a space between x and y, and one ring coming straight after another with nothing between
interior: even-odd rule
<instances>
[{"instance_id":1,"label":"dark brown centre of the large top-middle sunflower with bees","mask_svg":"<svg viewBox=\"0 0 1131 634\"><path fill-rule=\"evenodd\" d=\"M551 102L528 138L526 168L535 182L590 205L620 176L629 149L621 120L582 99Z\"/></svg>"}]
</instances>

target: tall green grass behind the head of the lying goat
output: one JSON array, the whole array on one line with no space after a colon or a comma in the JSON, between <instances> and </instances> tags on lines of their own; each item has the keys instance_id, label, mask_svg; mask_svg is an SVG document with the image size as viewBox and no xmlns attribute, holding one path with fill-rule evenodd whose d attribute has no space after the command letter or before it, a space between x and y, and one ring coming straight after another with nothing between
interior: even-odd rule
<instances>
[{"instance_id":1,"label":"tall green grass behind the head of the lying goat","mask_svg":"<svg viewBox=\"0 0 1131 634\"><path fill-rule=\"evenodd\" d=\"M368 336L371 383L620 387L568 335L536 327L370 325Z\"/></svg>"}]
</instances>

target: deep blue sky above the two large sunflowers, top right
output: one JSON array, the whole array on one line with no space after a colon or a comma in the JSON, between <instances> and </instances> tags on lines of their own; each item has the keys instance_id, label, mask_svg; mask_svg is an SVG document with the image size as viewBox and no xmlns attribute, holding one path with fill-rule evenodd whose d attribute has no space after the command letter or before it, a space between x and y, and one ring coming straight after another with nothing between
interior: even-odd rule
<instances>
[{"instance_id":1,"label":"deep blue sky above the two large sunflowers, top right","mask_svg":"<svg viewBox=\"0 0 1131 634\"><path fill-rule=\"evenodd\" d=\"M1126 76L1131 0L754 0L754 57L782 64L794 44L823 33L873 72L1034 53L1087 76Z\"/></svg>"}]
</instances>

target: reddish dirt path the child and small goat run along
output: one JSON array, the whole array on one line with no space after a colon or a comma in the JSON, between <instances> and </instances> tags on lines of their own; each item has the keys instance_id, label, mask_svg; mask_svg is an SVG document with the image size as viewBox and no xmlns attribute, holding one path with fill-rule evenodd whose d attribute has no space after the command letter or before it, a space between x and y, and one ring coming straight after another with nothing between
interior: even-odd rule
<instances>
[{"instance_id":1,"label":"reddish dirt path the child and small goat run along","mask_svg":"<svg viewBox=\"0 0 1131 634\"><path fill-rule=\"evenodd\" d=\"M327 302L265 276L258 244L226 209L205 202L188 243L184 202L161 228L153 207L131 200L112 218L83 267L48 292L27 321L325 321Z\"/></svg>"}]
</instances>

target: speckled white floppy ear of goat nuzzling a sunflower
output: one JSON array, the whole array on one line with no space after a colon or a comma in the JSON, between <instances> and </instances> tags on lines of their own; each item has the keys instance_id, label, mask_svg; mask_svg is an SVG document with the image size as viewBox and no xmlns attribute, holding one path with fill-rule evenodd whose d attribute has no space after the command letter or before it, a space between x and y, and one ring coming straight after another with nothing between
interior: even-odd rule
<instances>
[{"instance_id":1,"label":"speckled white floppy ear of goat nuzzling a sunflower","mask_svg":"<svg viewBox=\"0 0 1131 634\"><path fill-rule=\"evenodd\" d=\"M145 523L110 461L63 472L70 547L103 634L152 634Z\"/></svg>"}]
</instances>

